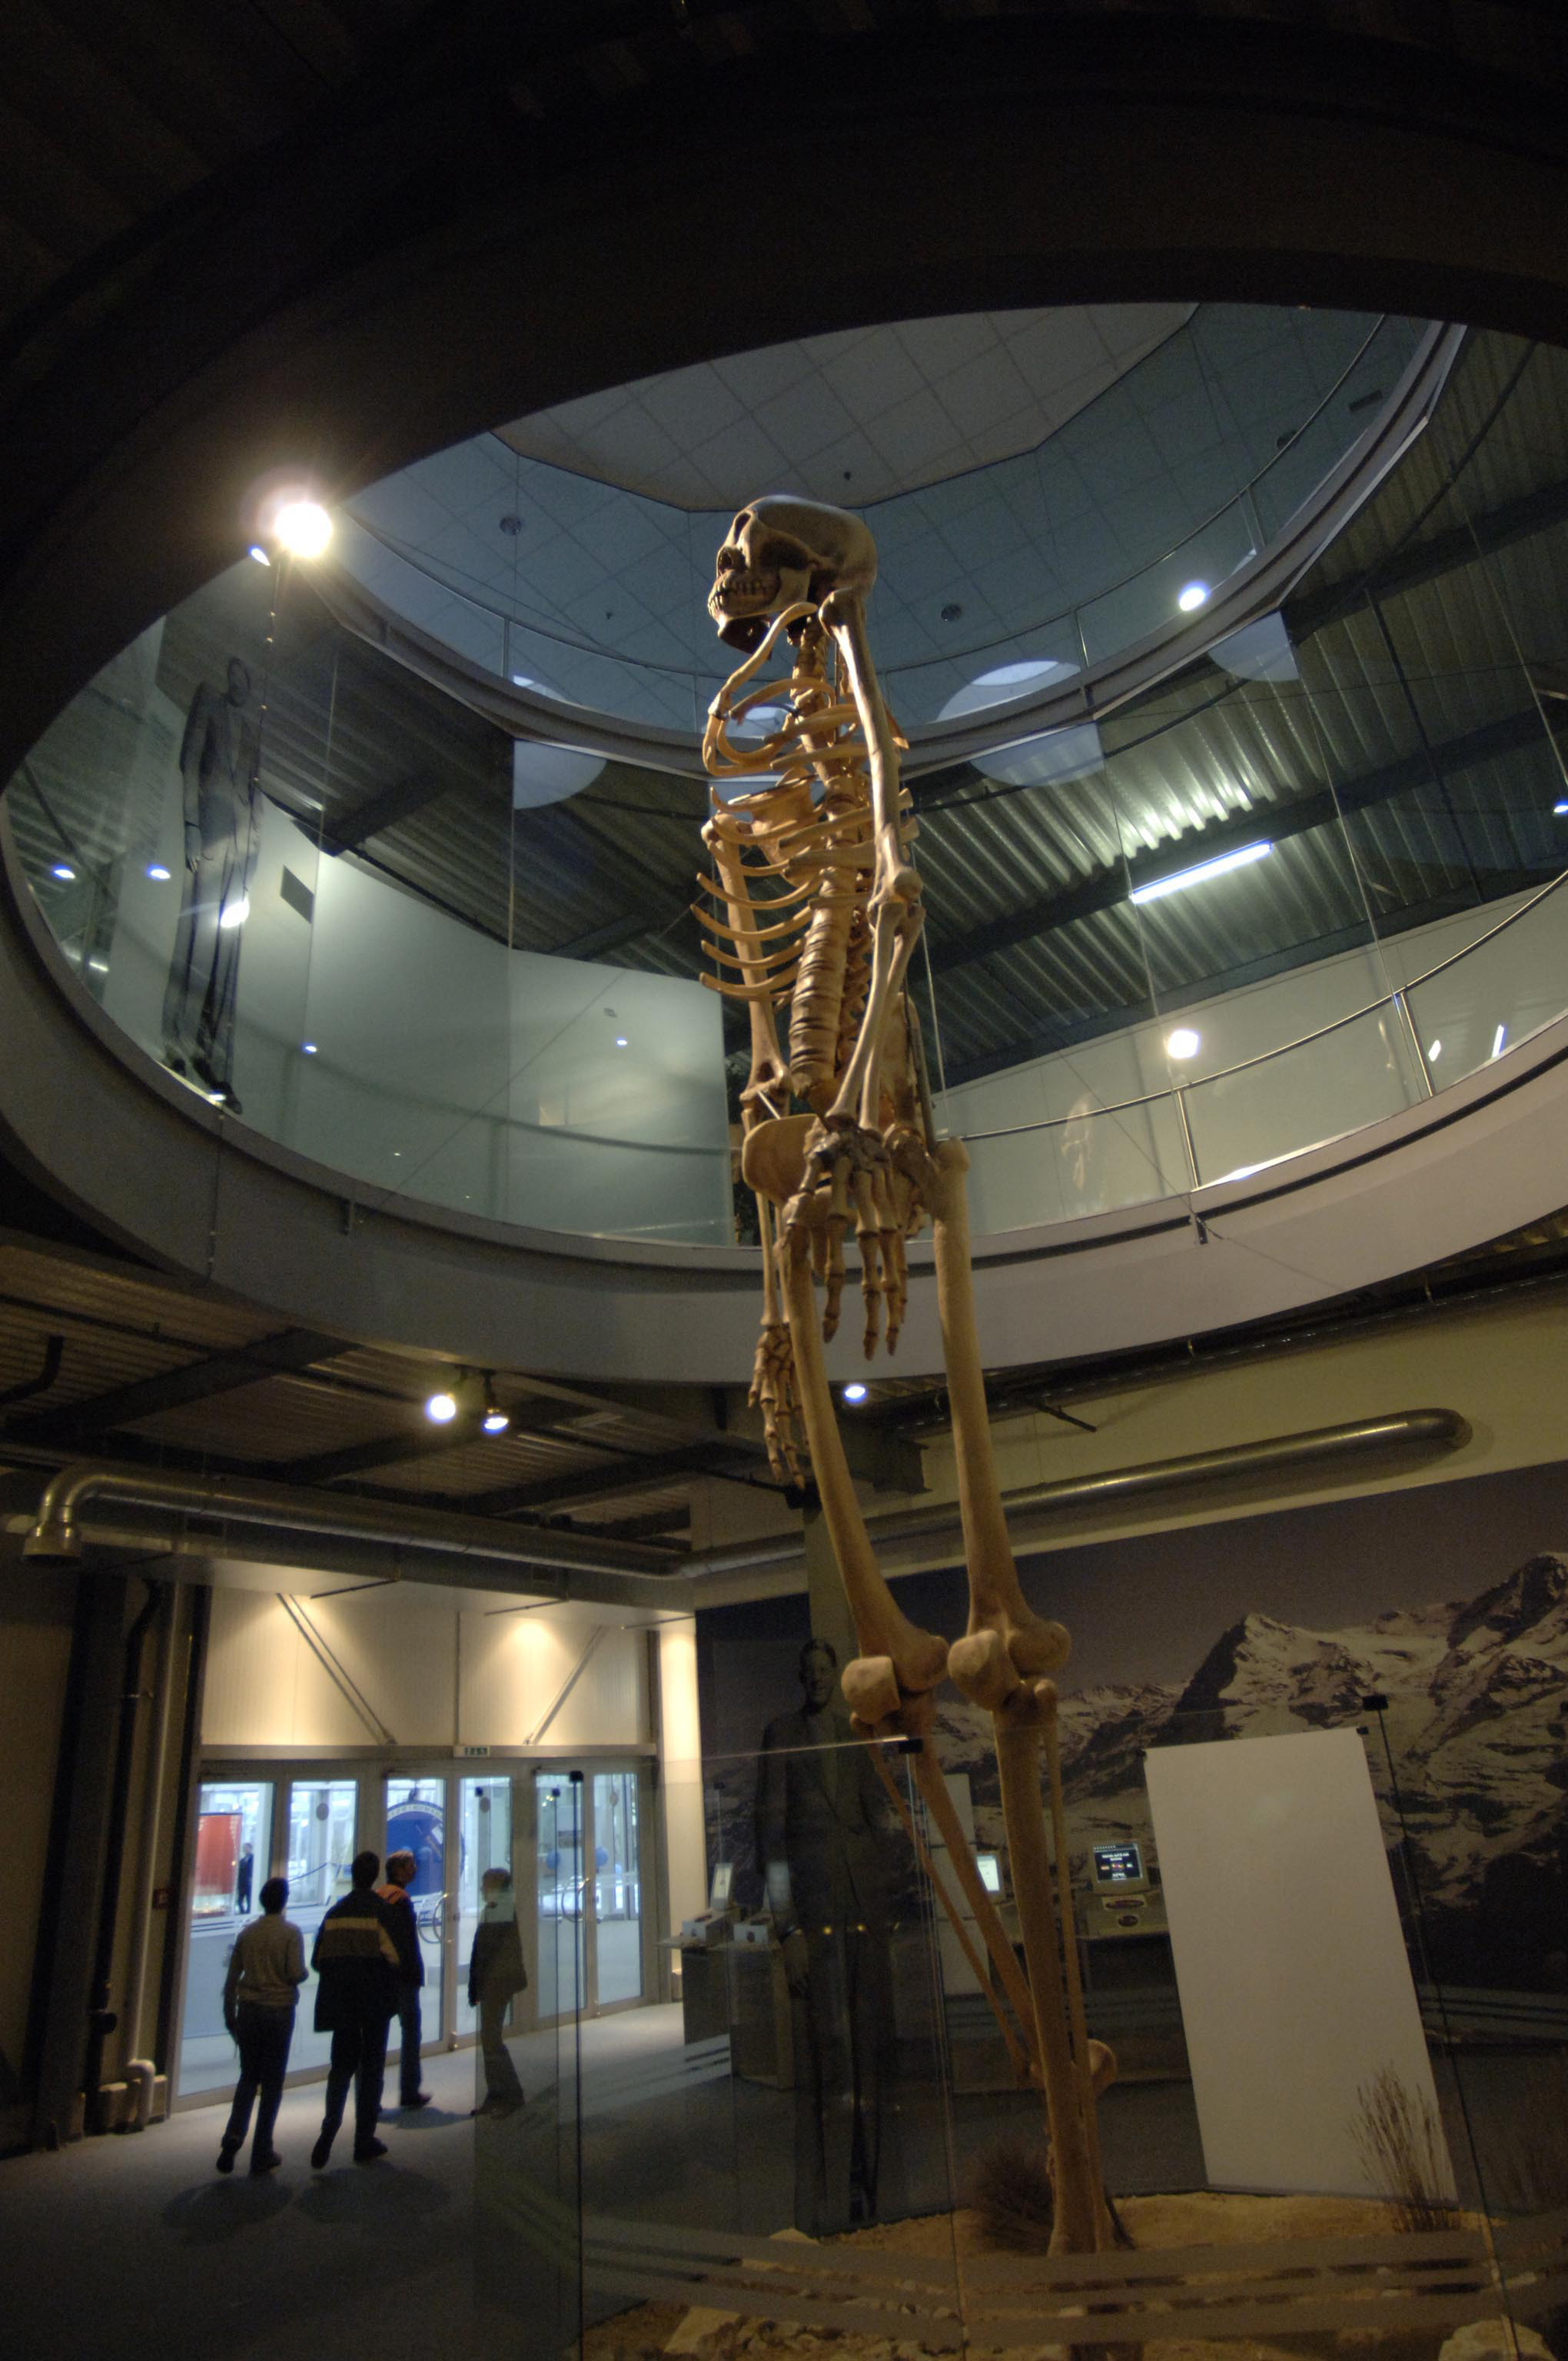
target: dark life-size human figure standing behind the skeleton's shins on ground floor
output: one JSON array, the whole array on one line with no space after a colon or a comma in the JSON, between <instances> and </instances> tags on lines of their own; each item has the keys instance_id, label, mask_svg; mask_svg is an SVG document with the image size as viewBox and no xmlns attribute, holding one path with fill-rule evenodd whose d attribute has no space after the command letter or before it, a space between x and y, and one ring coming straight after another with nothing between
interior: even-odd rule
<instances>
[{"instance_id":1,"label":"dark life-size human figure standing behind the skeleton's shins on ground floor","mask_svg":"<svg viewBox=\"0 0 1568 2361\"><path fill-rule=\"evenodd\" d=\"M838 1698L838 1657L801 1650L801 1712L763 1731L758 1863L784 1943L796 2049L796 2229L876 2217L893 2033L883 1792Z\"/></svg>"}]
</instances>

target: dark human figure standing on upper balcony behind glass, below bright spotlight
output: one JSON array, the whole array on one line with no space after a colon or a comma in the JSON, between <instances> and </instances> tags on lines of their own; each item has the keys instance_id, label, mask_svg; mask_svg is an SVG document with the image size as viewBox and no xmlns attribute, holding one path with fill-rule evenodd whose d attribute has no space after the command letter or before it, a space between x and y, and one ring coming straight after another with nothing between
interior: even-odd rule
<instances>
[{"instance_id":1,"label":"dark human figure standing on upper balcony behind glass, below bright spotlight","mask_svg":"<svg viewBox=\"0 0 1568 2361\"><path fill-rule=\"evenodd\" d=\"M239 926L222 926L250 888L257 852L257 751L246 720L250 673L229 656L220 696L205 680L179 741L184 789L184 895L163 994L163 1062L191 1072L239 1114L234 1096L234 992Z\"/></svg>"}]
</instances>

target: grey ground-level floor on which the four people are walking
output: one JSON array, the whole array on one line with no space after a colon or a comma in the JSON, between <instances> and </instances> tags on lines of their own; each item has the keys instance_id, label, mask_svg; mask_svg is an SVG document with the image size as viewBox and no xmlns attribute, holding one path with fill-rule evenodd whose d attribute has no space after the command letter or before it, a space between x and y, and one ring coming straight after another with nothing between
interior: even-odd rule
<instances>
[{"instance_id":1,"label":"grey ground-level floor on which the four people are walking","mask_svg":"<svg viewBox=\"0 0 1568 2361\"><path fill-rule=\"evenodd\" d=\"M633 2297L595 2255L628 2226L770 2236L793 2217L796 2101L730 2073L727 2042L682 2042L680 2012L635 2009L512 2045L529 2106L475 2123L477 2054L425 2059L435 2104L392 2113L387 2158L352 2163L345 2134L309 2170L321 2085L286 2094L283 2170L213 2170L222 2108L139 2137L0 2163L0 2323L28 2361L550 2361L579 2304L605 2319ZM1518 2059L1476 2068L1471 2111L1507 2120ZM968 2165L1039 2111L1013 2092L942 2097L900 2073L888 2108L888 2212L963 2193ZM1185 2082L1117 2087L1103 2106L1112 2189L1202 2186ZM590 2236L579 2243L579 2208Z\"/></svg>"}]
</instances>

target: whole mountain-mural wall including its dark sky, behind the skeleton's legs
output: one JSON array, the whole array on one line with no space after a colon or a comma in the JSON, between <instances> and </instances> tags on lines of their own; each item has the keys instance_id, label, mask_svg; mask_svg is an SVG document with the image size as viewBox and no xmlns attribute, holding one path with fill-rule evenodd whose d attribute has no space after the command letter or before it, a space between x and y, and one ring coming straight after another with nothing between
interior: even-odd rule
<instances>
[{"instance_id":1,"label":"whole mountain-mural wall including its dark sky, behind the skeleton's legs","mask_svg":"<svg viewBox=\"0 0 1568 2361\"><path fill-rule=\"evenodd\" d=\"M1400 1787L1433 1971L1568 1988L1568 1464L1058 1549L1020 1575L1074 1636L1074 1856L1150 1844L1148 1747L1367 1724L1379 1778ZM963 1629L961 1570L909 1577L897 1601L947 1639ZM805 1596L699 1613L711 1825L723 1816L749 1901L744 1754L798 1705L808 1629ZM1363 1709L1374 1693L1381 1728ZM952 1686L937 1752L968 1775L975 1842L1001 1846L989 1716Z\"/></svg>"}]
</instances>

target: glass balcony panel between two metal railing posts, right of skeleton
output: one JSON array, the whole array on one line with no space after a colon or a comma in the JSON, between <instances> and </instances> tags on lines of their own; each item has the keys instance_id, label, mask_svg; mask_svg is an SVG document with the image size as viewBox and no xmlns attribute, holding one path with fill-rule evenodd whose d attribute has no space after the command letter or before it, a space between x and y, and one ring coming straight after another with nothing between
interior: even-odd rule
<instances>
[{"instance_id":1,"label":"glass balcony panel between two metal railing posts, right of skeleton","mask_svg":"<svg viewBox=\"0 0 1568 2361\"><path fill-rule=\"evenodd\" d=\"M1400 1114L1424 1093L1400 1011L1384 1001L1240 1072L1188 1084L1181 1096L1207 1188Z\"/></svg>"}]
</instances>

